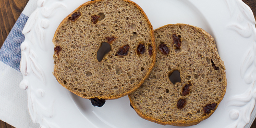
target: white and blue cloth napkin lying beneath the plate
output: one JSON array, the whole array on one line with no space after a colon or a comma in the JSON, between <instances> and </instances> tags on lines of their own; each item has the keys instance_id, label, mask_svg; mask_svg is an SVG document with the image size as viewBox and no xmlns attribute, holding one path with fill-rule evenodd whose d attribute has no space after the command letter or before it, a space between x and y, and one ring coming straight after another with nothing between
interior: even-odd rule
<instances>
[{"instance_id":1,"label":"white and blue cloth napkin lying beneath the plate","mask_svg":"<svg viewBox=\"0 0 256 128\"><path fill-rule=\"evenodd\" d=\"M11 29L0 49L0 120L14 127L40 127L32 122L28 111L27 92L19 88L22 80L19 65L20 45L25 40L21 33L29 16L36 9L37 0L30 0ZM256 109L251 113L250 127L256 116Z\"/></svg>"}]
</instances>

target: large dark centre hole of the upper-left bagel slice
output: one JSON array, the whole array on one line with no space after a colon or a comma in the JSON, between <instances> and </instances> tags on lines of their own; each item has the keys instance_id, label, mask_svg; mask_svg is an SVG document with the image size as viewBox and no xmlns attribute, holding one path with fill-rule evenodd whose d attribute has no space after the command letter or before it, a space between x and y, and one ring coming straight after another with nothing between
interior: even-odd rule
<instances>
[{"instance_id":1,"label":"large dark centre hole of the upper-left bagel slice","mask_svg":"<svg viewBox=\"0 0 256 128\"><path fill-rule=\"evenodd\" d=\"M104 58L104 56L111 51L110 44L106 42L102 42L99 50L97 50L97 60L100 62Z\"/></svg>"}]
</instances>

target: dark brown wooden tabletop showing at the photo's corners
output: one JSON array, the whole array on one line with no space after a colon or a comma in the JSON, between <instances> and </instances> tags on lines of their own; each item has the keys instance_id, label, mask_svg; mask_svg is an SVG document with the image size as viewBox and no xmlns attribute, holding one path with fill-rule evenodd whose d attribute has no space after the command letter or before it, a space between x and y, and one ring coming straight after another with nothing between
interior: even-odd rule
<instances>
[{"instance_id":1,"label":"dark brown wooden tabletop showing at the photo's corners","mask_svg":"<svg viewBox=\"0 0 256 128\"><path fill-rule=\"evenodd\" d=\"M0 0L0 47L29 0ZM256 19L256 0L242 0L251 7ZM15 128L0 120L0 128ZM251 128L256 128L256 120Z\"/></svg>"}]
</instances>

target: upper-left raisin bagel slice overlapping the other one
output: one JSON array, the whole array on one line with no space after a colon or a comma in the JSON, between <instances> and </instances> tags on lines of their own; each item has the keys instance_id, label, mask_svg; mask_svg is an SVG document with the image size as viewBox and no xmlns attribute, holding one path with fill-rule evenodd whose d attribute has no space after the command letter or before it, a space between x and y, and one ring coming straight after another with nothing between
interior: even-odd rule
<instances>
[{"instance_id":1,"label":"upper-left raisin bagel slice overlapping the other one","mask_svg":"<svg viewBox=\"0 0 256 128\"><path fill-rule=\"evenodd\" d=\"M103 42L111 50L98 61ZM152 25L128 0L84 3L60 23L53 44L57 81L88 99L117 99L135 91L148 78L156 57Z\"/></svg>"}]
</instances>

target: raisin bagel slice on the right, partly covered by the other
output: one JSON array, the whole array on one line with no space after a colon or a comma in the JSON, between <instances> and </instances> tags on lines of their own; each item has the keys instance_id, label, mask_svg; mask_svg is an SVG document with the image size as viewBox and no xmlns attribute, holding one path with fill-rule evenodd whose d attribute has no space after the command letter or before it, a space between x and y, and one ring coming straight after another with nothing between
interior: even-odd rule
<instances>
[{"instance_id":1,"label":"raisin bagel slice on the right, partly covered by the other","mask_svg":"<svg viewBox=\"0 0 256 128\"><path fill-rule=\"evenodd\" d=\"M226 92L225 66L213 37L188 24L168 24L154 34L155 67L129 94L131 106L140 117L163 125L190 126L209 118ZM180 38L180 48L173 36ZM168 47L167 55L160 45ZM173 84L169 75L175 70L181 81Z\"/></svg>"}]
</instances>

